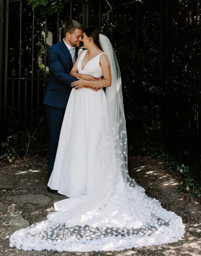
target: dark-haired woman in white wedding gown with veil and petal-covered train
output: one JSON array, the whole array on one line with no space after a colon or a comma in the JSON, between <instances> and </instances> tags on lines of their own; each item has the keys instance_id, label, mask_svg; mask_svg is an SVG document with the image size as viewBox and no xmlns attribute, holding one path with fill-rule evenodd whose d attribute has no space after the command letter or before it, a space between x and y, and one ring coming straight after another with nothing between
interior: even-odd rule
<instances>
[{"instance_id":1,"label":"dark-haired woman in white wedding gown with veil and petal-covered train","mask_svg":"<svg viewBox=\"0 0 201 256\"><path fill-rule=\"evenodd\" d=\"M83 43L87 50L71 71L78 81L48 182L70 198L55 202L56 212L46 220L14 232L10 246L90 252L177 242L185 233L181 217L147 197L128 174L121 75L112 45L94 28L86 29ZM104 79L86 81L82 74Z\"/></svg>"}]
</instances>

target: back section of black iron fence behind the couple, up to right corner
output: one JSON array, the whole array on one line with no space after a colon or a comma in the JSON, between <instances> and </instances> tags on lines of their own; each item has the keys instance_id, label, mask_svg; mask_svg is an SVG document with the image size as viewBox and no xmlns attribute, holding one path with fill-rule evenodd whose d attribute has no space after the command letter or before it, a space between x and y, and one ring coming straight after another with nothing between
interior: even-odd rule
<instances>
[{"instance_id":1,"label":"back section of black iron fence behind the couple, up to right corner","mask_svg":"<svg viewBox=\"0 0 201 256\"><path fill-rule=\"evenodd\" d=\"M63 38L64 22L75 19L85 27L99 27L113 44L122 73L130 147L159 147L165 79L163 0L71 0L59 16L47 18L23 0L4 0L3 9L1 140L18 151L47 150L42 104L48 79L46 50Z\"/></svg>"}]
</instances>

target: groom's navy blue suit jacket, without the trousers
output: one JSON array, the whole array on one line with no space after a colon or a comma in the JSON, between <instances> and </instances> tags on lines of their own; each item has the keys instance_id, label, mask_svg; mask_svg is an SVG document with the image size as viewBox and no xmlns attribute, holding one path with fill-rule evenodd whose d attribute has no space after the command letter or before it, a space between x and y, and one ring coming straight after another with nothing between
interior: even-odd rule
<instances>
[{"instance_id":1,"label":"groom's navy blue suit jacket, without the trousers","mask_svg":"<svg viewBox=\"0 0 201 256\"><path fill-rule=\"evenodd\" d=\"M77 59L77 51L75 54ZM77 81L77 78L69 75L73 63L63 39L48 47L47 63L49 79L43 103L65 109L72 90L71 83Z\"/></svg>"}]
</instances>

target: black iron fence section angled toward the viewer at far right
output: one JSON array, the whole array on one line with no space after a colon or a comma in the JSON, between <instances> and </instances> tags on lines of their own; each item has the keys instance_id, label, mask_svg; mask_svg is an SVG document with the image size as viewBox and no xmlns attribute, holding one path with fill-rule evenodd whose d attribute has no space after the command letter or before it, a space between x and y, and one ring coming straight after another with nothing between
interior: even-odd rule
<instances>
[{"instance_id":1,"label":"black iron fence section angled toward the viewer at far right","mask_svg":"<svg viewBox=\"0 0 201 256\"><path fill-rule=\"evenodd\" d=\"M201 1L167 7L166 147L200 183Z\"/></svg>"}]
</instances>

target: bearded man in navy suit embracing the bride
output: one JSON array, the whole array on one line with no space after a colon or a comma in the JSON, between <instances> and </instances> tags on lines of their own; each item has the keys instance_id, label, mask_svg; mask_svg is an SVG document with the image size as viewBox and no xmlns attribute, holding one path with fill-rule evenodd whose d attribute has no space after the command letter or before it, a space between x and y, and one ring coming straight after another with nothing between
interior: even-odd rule
<instances>
[{"instance_id":1,"label":"bearded man in navy suit embracing the bride","mask_svg":"<svg viewBox=\"0 0 201 256\"><path fill-rule=\"evenodd\" d=\"M62 127L64 113L71 92L71 83L77 78L69 75L77 59L77 50L82 41L84 27L75 20L68 21L64 28L65 38L47 49L49 79L43 103L46 105L49 130L48 175L50 177ZM47 187L48 191L53 191Z\"/></svg>"}]
</instances>

